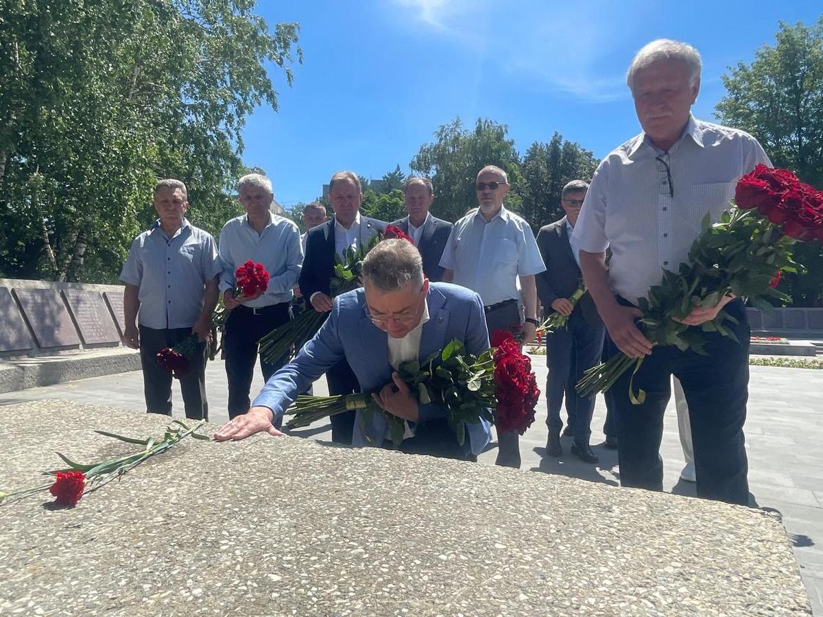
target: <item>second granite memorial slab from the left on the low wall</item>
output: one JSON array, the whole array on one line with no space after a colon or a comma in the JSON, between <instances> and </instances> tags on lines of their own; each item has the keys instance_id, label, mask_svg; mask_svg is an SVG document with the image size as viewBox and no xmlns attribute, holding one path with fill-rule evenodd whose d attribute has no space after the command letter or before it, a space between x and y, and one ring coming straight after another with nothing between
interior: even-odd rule
<instances>
[{"instance_id":1,"label":"second granite memorial slab from the left on the low wall","mask_svg":"<svg viewBox=\"0 0 823 617\"><path fill-rule=\"evenodd\" d=\"M37 346L79 346L80 337L58 290L15 289L14 295L35 334Z\"/></svg>"}]
</instances>

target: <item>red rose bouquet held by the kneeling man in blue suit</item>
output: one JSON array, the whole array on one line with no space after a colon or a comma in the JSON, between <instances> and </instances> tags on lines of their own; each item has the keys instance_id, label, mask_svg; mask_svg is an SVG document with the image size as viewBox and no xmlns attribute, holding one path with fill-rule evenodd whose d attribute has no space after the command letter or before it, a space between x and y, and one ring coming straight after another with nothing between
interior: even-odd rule
<instances>
[{"instance_id":1,"label":"red rose bouquet held by the kneeling man in blue suit","mask_svg":"<svg viewBox=\"0 0 823 617\"><path fill-rule=\"evenodd\" d=\"M497 424L500 430L523 434L534 421L540 391L531 360L520 352L510 332L495 331L492 342L494 347L476 356L462 342L454 340L422 362L403 362L398 369L420 405L444 408L449 427L461 446L465 443L466 424L484 419ZM406 430L404 420L381 409L371 395L372 392L362 392L337 397L298 397L286 411L292 415L286 427L308 426L316 420L359 409L364 411L364 424L369 424L371 415L383 414L388 423L388 438L399 447Z\"/></svg>"}]
</instances>

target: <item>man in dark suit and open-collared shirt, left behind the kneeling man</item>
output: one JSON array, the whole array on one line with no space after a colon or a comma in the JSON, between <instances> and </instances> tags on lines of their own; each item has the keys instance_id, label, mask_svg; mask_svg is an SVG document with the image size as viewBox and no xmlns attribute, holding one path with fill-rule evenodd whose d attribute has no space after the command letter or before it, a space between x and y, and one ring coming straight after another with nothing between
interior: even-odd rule
<instances>
[{"instance_id":1,"label":"man in dark suit and open-collared shirt, left behind the kneeling man","mask_svg":"<svg viewBox=\"0 0 823 617\"><path fill-rule=\"evenodd\" d=\"M342 256L346 248L360 248L369 244L375 234L382 234L386 223L360 216L363 193L360 179L351 171L338 171L328 185L328 200L334 216L323 225L307 232L303 268L300 270L300 291L319 313L332 309L331 281L334 276L335 256ZM360 384L346 360L341 360L326 373L328 393L352 394L360 392ZM332 441L351 444L355 412L333 415Z\"/></svg>"}]
</instances>

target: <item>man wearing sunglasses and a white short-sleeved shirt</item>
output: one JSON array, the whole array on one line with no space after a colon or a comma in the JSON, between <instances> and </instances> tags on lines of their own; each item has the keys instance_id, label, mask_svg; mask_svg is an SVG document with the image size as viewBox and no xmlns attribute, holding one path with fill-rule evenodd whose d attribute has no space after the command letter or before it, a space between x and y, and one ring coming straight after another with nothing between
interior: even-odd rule
<instances>
[{"instance_id":1,"label":"man wearing sunglasses and a white short-sleeved shirt","mask_svg":"<svg viewBox=\"0 0 823 617\"><path fill-rule=\"evenodd\" d=\"M445 268L444 281L480 295L490 333L509 330L530 343L537 328L534 276L546 267L528 223L503 205L509 188L509 179L500 167L486 165L480 170L475 186L477 211L454 224L440 265ZM518 305L521 296L525 323ZM499 432L497 444L497 464L519 467L519 435Z\"/></svg>"}]
</instances>

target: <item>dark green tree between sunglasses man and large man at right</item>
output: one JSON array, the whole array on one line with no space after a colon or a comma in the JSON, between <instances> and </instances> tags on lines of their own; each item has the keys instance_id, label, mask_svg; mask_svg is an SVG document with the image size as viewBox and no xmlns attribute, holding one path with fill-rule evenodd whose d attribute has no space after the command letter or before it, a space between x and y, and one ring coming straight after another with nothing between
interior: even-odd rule
<instances>
[{"instance_id":1,"label":"dark green tree between sunglasses man and large man at right","mask_svg":"<svg viewBox=\"0 0 823 617\"><path fill-rule=\"evenodd\" d=\"M597 159L591 151L555 133L548 143L535 141L520 162L523 182L516 187L521 214L537 231L563 216L560 193L571 180L592 179Z\"/></svg>"}]
</instances>

